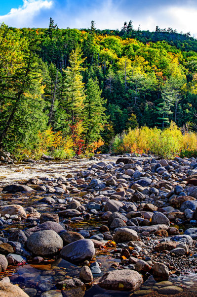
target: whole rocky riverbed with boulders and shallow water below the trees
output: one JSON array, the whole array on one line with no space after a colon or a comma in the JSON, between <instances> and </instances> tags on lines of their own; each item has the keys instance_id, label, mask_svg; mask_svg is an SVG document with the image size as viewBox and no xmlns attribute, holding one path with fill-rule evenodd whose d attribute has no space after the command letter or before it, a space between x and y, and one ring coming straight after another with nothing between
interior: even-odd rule
<instances>
[{"instance_id":1,"label":"whole rocky riverbed with boulders and shallow water below the trees","mask_svg":"<svg viewBox=\"0 0 197 297\"><path fill-rule=\"evenodd\" d=\"M0 296L197 296L197 159L0 170Z\"/></svg>"}]
</instances>

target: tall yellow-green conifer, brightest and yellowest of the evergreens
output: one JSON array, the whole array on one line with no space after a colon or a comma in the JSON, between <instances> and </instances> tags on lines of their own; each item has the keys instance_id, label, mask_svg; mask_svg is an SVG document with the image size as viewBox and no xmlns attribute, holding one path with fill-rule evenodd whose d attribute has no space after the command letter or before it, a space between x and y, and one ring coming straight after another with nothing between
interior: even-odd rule
<instances>
[{"instance_id":1,"label":"tall yellow-green conifer, brightest and yellowest of the evergreens","mask_svg":"<svg viewBox=\"0 0 197 297\"><path fill-rule=\"evenodd\" d=\"M65 78L63 98L60 105L67 111L68 119L72 123L82 118L84 99L86 97L81 75L81 71L84 70L81 66L84 59L81 58L81 55L79 48L73 50L69 59L70 66L66 70L63 69Z\"/></svg>"}]
</instances>

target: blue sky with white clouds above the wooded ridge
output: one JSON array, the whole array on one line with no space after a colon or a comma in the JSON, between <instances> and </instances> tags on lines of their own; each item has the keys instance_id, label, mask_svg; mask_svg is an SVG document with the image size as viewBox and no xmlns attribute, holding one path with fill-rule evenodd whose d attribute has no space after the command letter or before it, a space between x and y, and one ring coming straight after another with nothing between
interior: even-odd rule
<instances>
[{"instance_id":1,"label":"blue sky with white clouds above the wooded ridge","mask_svg":"<svg viewBox=\"0 0 197 297\"><path fill-rule=\"evenodd\" d=\"M0 23L12 27L47 28L52 17L59 28L135 29L171 27L197 38L197 0L0 0Z\"/></svg>"}]
</instances>

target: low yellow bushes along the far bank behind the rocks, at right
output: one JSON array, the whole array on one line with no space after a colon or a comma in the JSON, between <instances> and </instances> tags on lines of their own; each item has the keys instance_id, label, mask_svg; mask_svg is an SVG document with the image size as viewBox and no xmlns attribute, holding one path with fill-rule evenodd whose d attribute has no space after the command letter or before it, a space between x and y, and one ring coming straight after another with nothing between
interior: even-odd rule
<instances>
[{"instance_id":1,"label":"low yellow bushes along the far bank behind the rocks, at right","mask_svg":"<svg viewBox=\"0 0 197 297\"><path fill-rule=\"evenodd\" d=\"M117 135L111 144L111 150L116 153L151 152L165 158L172 158L181 153L192 156L192 153L195 155L197 151L197 134L182 133L174 122L163 130L137 127Z\"/></svg>"}]
</instances>

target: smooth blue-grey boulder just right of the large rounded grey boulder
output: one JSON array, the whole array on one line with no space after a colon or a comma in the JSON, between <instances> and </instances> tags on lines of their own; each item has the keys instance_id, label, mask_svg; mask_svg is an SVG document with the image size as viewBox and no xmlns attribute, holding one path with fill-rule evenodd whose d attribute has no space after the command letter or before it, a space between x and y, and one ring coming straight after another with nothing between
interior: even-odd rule
<instances>
[{"instance_id":1,"label":"smooth blue-grey boulder just right of the large rounded grey boulder","mask_svg":"<svg viewBox=\"0 0 197 297\"><path fill-rule=\"evenodd\" d=\"M63 247L60 255L70 262L81 262L91 259L95 254L94 244L89 239L81 239Z\"/></svg>"}]
</instances>

